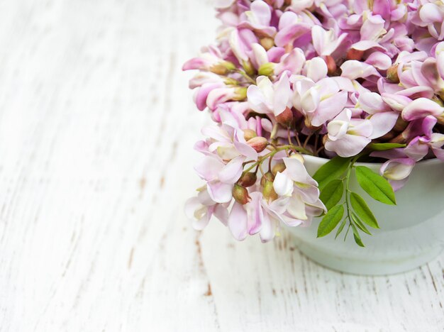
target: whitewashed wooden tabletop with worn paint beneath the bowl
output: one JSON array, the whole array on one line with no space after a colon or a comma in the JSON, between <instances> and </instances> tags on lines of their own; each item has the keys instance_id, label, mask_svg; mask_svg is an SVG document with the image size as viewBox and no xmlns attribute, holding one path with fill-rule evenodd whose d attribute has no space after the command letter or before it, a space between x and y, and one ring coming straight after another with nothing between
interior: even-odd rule
<instances>
[{"instance_id":1,"label":"whitewashed wooden tabletop with worn paint beneath the bowl","mask_svg":"<svg viewBox=\"0 0 444 332\"><path fill-rule=\"evenodd\" d=\"M307 260L284 235L196 233L182 62L211 1L0 4L0 331L443 331L444 255L393 277Z\"/></svg>"}]
</instances>

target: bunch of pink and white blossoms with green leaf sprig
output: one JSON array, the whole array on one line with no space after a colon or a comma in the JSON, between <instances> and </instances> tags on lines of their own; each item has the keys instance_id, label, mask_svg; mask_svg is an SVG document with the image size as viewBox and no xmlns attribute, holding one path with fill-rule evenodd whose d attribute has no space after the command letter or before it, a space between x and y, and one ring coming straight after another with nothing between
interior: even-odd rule
<instances>
[{"instance_id":1,"label":"bunch of pink and white blossoms with green leaf sprig","mask_svg":"<svg viewBox=\"0 0 444 332\"><path fill-rule=\"evenodd\" d=\"M441 0L218 0L217 43L184 64L200 111L215 122L195 148L206 184L186 212L212 216L234 238L272 240L282 225L322 217L379 228L372 199L394 192L416 162L444 160L444 4ZM313 175L307 156L326 158ZM381 162L379 174L356 162ZM347 226L347 227L345 227Z\"/></svg>"}]
</instances>

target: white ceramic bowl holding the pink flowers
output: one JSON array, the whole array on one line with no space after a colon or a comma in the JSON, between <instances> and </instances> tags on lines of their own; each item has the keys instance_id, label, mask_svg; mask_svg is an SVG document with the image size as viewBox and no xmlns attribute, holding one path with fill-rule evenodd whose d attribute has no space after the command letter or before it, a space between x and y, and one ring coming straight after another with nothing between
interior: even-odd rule
<instances>
[{"instance_id":1,"label":"white ceramic bowl holding the pink flowers","mask_svg":"<svg viewBox=\"0 0 444 332\"><path fill-rule=\"evenodd\" d=\"M328 160L305 157L308 172L313 175ZM379 172L381 164L359 162ZM335 240L335 231L316 238L321 218L309 227L292 227L298 248L306 256L333 270L357 275L390 275L414 269L435 258L444 246L444 164L440 160L418 162L404 188L396 192L396 206L369 197L355 177L350 189L365 198L374 212L380 229L369 228L369 236L360 232L365 248L355 244L346 227Z\"/></svg>"}]
</instances>

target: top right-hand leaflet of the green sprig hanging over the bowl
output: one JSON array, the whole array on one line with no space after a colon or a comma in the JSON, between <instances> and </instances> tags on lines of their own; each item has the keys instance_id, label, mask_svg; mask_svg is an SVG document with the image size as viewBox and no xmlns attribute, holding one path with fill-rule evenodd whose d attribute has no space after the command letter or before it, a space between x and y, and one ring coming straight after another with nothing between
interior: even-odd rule
<instances>
[{"instance_id":1,"label":"top right-hand leaflet of the green sprig hanging over the bowl","mask_svg":"<svg viewBox=\"0 0 444 332\"><path fill-rule=\"evenodd\" d=\"M367 194L384 204L396 205L393 188L387 179L373 172L369 167L357 166L355 168L357 182Z\"/></svg>"}]
</instances>

